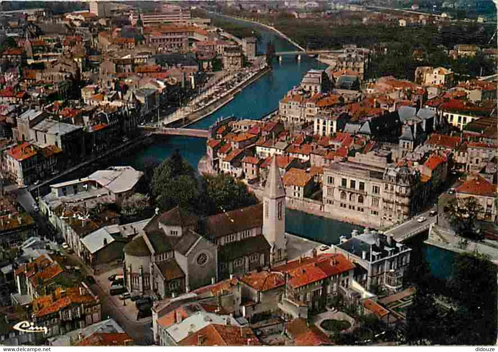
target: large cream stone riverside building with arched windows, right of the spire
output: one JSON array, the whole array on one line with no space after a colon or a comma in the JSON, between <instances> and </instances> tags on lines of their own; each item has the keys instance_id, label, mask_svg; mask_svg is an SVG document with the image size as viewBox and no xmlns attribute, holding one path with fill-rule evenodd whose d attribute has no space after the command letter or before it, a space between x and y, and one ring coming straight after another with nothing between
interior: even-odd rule
<instances>
[{"instance_id":1,"label":"large cream stone riverside building with arched windows, right of the spire","mask_svg":"<svg viewBox=\"0 0 498 352\"><path fill-rule=\"evenodd\" d=\"M407 220L423 202L415 192L418 171L374 151L325 166L323 177L325 212L342 219L381 227Z\"/></svg>"}]
</instances>

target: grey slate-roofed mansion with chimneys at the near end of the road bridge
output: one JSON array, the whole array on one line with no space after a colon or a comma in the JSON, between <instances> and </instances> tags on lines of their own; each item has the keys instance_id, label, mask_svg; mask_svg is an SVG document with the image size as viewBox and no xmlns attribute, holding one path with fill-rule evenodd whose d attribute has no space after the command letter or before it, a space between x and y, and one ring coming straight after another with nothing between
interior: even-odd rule
<instances>
[{"instance_id":1,"label":"grey slate-roofed mansion with chimneys at the near end of the road bridge","mask_svg":"<svg viewBox=\"0 0 498 352\"><path fill-rule=\"evenodd\" d=\"M344 254L356 264L354 279L368 291L383 286L390 292L399 291L403 278L408 273L411 248L397 243L390 235L365 231L332 245L334 250Z\"/></svg>"}]
</instances>

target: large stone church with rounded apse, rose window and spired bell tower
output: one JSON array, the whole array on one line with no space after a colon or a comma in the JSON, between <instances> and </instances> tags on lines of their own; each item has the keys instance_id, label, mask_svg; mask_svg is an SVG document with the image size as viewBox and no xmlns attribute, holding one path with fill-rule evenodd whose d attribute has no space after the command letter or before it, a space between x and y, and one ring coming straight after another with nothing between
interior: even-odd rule
<instances>
[{"instance_id":1,"label":"large stone church with rounded apse, rose window and spired bell tower","mask_svg":"<svg viewBox=\"0 0 498 352\"><path fill-rule=\"evenodd\" d=\"M262 203L205 218L179 207L154 216L124 247L125 283L129 292L170 297L282 263L286 246L274 156Z\"/></svg>"}]
</instances>

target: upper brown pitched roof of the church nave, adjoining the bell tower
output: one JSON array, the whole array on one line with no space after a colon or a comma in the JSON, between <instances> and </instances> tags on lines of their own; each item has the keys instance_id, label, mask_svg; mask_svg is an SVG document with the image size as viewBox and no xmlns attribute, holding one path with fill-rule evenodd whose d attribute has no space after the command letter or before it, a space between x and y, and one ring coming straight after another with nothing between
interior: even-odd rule
<instances>
[{"instance_id":1,"label":"upper brown pitched roof of the church nave, adjoining the bell tower","mask_svg":"<svg viewBox=\"0 0 498 352\"><path fill-rule=\"evenodd\" d=\"M233 220L233 222L232 222ZM202 219L206 237L219 238L236 232L263 226L263 204L220 213Z\"/></svg>"}]
</instances>

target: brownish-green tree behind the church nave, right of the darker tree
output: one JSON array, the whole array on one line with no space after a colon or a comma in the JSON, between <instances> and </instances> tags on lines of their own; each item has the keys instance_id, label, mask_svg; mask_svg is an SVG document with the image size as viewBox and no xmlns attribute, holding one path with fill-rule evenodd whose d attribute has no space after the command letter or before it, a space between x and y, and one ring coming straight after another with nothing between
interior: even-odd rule
<instances>
[{"instance_id":1,"label":"brownish-green tree behind the church nave, right of the darker tree","mask_svg":"<svg viewBox=\"0 0 498 352\"><path fill-rule=\"evenodd\" d=\"M248 207L258 202L245 183L227 174L205 175L206 215Z\"/></svg>"}]
</instances>

